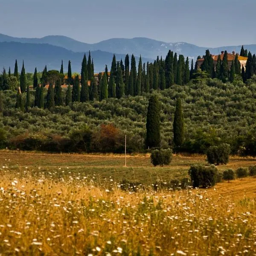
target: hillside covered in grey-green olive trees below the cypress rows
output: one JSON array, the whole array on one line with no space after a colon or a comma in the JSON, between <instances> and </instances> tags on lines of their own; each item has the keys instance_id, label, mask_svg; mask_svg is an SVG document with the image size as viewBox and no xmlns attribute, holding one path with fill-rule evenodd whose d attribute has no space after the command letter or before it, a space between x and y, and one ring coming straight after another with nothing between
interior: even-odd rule
<instances>
[{"instance_id":1,"label":"hillside covered in grey-green olive trees below the cypress rows","mask_svg":"<svg viewBox=\"0 0 256 256\"><path fill-rule=\"evenodd\" d=\"M46 93L47 91L45 95ZM159 96L161 102L163 147L172 146L175 101L180 97L185 117L184 151L201 153L210 145L225 142L231 145L233 154L255 154L255 78L249 80L246 85L240 81L235 84L223 84L221 81L209 79L197 84L190 82L185 86L175 85L154 93ZM57 140L58 137L65 139L66 143L70 142L70 139L73 142L76 140L76 148L82 143L89 143L90 145L84 146L86 151L105 151L99 140L100 125L111 123L119 129L116 131L118 140L115 138L117 141L112 151L123 152L125 134L128 138L128 151L142 151L149 96L150 94L143 94L102 102L74 103L71 107L55 107L52 113L38 108L30 108L28 113L22 113L15 109L16 93L4 91L0 128L6 140L2 141L2 146L19 147L19 140L33 136L36 136L39 142ZM31 98L33 105L34 98ZM87 131L90 131L90 141L86 137ZM18 135L20 137L17 137ZM63 140L61 143L64 143Z\"/></svg>"}]
</instances>

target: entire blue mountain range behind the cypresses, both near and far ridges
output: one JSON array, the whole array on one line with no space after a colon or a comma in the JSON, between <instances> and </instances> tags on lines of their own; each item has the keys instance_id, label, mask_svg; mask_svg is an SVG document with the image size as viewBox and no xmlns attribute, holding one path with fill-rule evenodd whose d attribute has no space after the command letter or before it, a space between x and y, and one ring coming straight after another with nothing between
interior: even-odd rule
<instances>
[{"instance_id":1,"label":"entire blue mountain range behind the cypresses, both near and far ridges","mask_svg":"<svg viewBox=\"0 0 256 256\"><path fill-rule=\"evenodd\" d=\"M256 44L244 45L244 48L252 53L256 52ZM44 38L14 38L0 34L0 65L12 67L15 58L19 61L24 59L26 70L32 72L35 66L41 70L45 64L49 65L49 69L59 69L61 59L65 62L70 59L73 71L79 71L82 55L90 50L95 63L95 71L102 71L105 64L110 68L113 53L116 54L117 60L121 58L124 60L128 53L130 56L134 54L137 58L141 55L144 58L143 61L146 62L156 59L157 56L165 58L169 49L185 57L197 58L198 55L204 55L206 49L209 49L212 54L218 54L222 50L240 52L241 45L208 48L185 42L166 43L149 38L112 38L96 44L86 44L59 35ZM8 55L7 52L9 52Z\"/></svg>"}]
</instances>

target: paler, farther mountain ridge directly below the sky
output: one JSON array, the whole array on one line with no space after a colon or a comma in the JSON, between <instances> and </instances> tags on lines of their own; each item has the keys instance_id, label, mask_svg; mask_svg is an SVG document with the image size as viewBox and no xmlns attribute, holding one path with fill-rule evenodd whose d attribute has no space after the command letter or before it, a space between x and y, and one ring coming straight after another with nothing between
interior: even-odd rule
<instances>
[{"instance_id":1,"label":"paler, farther mountain ridge directly below the sky","mask_svg":"<svg viewBox=\"0 0 256 256\"><path fill-rule=\"evenodd\" d=\"M179 43L166 43L149 38L111 38L105 41L101 41L96 44L86 44L76 41L72 38L60 35L50 35L43 38L14 38L7 35L0 34L0 42L21 42L32 44L51 44L58 47L71 50L73 52L88 52L101 50L105 52L114 52L119 54L132 53L136 56L142 55L144 58L155 59L157 55L166 56L169 49L178 54L197 58L198 55L204 55L205 50L209 49L212 54L218 54L222 50L232 52L240 52L241 45L239 46L222 46L217 48L198 47L194 44L188 44L185 42ZM244 45L245 49L256 53L256 44Z\"/></svg>"}]
</instances>

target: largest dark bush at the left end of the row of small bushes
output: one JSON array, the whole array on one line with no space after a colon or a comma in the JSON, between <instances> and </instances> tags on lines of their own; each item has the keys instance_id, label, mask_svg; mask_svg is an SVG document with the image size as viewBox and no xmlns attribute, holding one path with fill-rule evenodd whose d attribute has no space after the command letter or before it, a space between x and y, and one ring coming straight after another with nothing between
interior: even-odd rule
<instances>
[{"instance_id":1,"label":"largest dark bush at the left end of the row of small bushes","mask_svg":"<svg viewBox=\"0 0 256 256\"><path fill-rule=\"evenodd\" d=\"M189 169L193 187L207 188L214 186L218 180L218 170L215 166L193 165Z\"/></svg>"}]
</instances>

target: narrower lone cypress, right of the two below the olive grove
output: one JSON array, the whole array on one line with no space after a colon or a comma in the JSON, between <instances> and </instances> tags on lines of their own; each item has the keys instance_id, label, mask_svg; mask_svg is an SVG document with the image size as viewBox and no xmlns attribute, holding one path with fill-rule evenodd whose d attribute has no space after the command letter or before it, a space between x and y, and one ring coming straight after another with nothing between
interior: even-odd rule
<instances>
[{"instance_id":1,"label":"narrower lone cypress, right of the two below the olive grove","mask_svg":"<svg viewBox=\"0 0 256 256\"><path fill-rule=\"evenodd\" d=\"M173 141L176 147L180 147L184 140L184 119L181 108L181 99L176 102L176 109L173 121Z\"/></svg>"}]
</instances>

